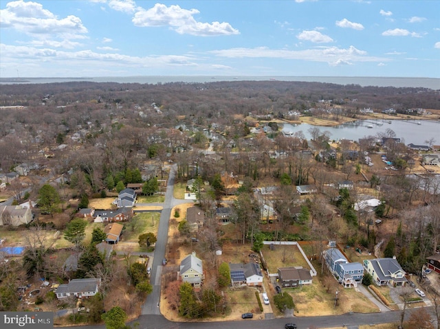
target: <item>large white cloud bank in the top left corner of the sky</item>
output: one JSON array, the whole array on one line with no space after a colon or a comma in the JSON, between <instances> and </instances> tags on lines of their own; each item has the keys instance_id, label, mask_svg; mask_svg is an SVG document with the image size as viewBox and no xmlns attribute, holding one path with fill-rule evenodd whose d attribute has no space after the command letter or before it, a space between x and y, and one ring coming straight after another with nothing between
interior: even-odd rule
<instances>
[{"instance_id":1,"label":"large white cloud bank in the top left corner of the sky","mask_svg":"<svg viewBox=\"0 0 440 329\"><path fill-rule=\"evenodd\" d=\"M36 2L12 1L0 10L0 23L42 40L85 38L87 28L80 18L69 15L58 19L50 10Z\"/></svg>"}]
</instances>

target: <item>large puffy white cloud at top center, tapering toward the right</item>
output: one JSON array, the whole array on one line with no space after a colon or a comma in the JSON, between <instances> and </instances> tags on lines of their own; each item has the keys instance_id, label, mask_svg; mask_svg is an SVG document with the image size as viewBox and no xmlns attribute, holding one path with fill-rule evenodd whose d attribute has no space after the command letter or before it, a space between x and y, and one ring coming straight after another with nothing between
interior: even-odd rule
<instances>
[{"instance_id":1,"label":"large puffy white cloud at top center, tapering toward the right","mask_svg":"<svg viewBox=\"0 0 440 329\"><path fill-rule=\"evenodd\" d=\"M133 23L140 27L170 26L179 34L191 34L194 36L218 36L239 34L229 23L201 23L194 19L193 15L199 14L199 10L186 10L179 5L167 7L162 3L156 3L153 8L145 10L138 8L133 17Z\"/></svg>"}]
</instances>

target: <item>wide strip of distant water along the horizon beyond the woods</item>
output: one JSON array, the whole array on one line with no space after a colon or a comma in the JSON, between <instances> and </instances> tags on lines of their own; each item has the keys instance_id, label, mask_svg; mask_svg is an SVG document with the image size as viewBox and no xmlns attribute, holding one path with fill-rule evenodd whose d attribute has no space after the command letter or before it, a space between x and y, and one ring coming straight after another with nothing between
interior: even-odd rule
<instances>
[{"instance_id":1,"label":"wide strip of distant water along the horizon beyond the woods","mask_svg":"<svg viewBox=\"0 0 440 329\"><path fill-rule=\"evenodd\" d=\"M439 78L390 78L356 76L108 76L94 78L0 78L0 84L52 83L70 81L157 84L168 82L204 83L215 81L296 81L359 84L362 87L423 87L440 89Z\"/></svg>"}]
</instances>

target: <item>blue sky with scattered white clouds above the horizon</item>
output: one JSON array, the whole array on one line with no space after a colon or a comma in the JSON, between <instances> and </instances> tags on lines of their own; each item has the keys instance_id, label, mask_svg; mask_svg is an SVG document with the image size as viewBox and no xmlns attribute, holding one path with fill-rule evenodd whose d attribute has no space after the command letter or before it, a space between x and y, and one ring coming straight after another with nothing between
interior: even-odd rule
<instances>
[{"instance_id":1,"label":"blue sky with scattered white clouds above the horizon","mask_svg":"<svg viewBox=\"0 0 440 329\"><path fill-rule=\"evenodd\" d=\"M0 0L0 78L104 76L440 78L440 1Z\"/></svg>"}]
</instances>

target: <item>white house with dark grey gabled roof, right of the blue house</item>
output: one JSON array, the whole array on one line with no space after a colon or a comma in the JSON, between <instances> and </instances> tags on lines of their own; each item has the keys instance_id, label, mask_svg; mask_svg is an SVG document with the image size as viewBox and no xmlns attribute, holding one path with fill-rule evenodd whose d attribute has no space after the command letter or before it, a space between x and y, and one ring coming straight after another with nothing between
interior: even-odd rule
<instances>
[{"instance_id":1,"label":"white house with dark grey gabled roof, right of the blue house","mask_svg":"<svg viewBox=\"0 0 440 329\"><path fill-rule=\"evenodd\" d=\"M394 257L364 260L364 268L373 276L377 286L406 286L408 282L406 272Z\"/></svg>"}]
</instances>

